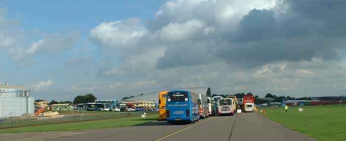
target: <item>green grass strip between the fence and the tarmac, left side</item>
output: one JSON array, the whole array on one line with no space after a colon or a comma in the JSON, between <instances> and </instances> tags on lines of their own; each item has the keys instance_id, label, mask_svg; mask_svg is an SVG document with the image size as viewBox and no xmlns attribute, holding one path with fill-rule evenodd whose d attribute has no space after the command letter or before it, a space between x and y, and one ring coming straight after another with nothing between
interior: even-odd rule
<instances>
[{"instance_id":1,"label":"green grass strip between the fence and the tarmac, left side","mask_svg":"<svg viewBox=\"0 0 346 141\"><path fill-rule=\"evenodd\" d=\"M42 131L72 131L72 130L88 130L111 127L127 127L158 120L158 115L147 115L146 118L127 117L115 118L97 121L85 121L74 123L50 124L29 127L19 127L11 129L0 129L0 133L18 133L18 132L42 132Z\"/></svg>"}]
</instances>

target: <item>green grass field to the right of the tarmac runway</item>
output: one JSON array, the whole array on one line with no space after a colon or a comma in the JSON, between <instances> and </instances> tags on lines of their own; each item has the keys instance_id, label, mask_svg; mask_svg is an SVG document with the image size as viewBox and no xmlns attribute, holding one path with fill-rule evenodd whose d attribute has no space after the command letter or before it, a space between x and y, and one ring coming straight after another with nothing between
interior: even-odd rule
<instances>
[{"instance_id":1,"label":"green grass field to the right of the tarmac runway","mask_svg":"<svg viewBox=\"0 0 346 141\"><path fill-rule=\"evenodd\" d=\"M262 108L265 116L318 141L346 141L346 105ZM260 110L261 108L259 108Z\"/></svg>"}]
</instances>

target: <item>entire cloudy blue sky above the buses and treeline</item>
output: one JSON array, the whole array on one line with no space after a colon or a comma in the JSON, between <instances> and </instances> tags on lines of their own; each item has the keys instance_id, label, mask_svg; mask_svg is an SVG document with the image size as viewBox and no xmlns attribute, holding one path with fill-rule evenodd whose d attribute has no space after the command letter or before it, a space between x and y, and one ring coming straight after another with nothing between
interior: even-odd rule
<instances>
[{"instance_id":1,"label":"entire cloudy blue sky above the buses and treeline","mask_svg":"<svg viewBox=\"0 0 346 141\"><path fill-rule=\"evenodd\" d=\"M345 0L0 0L0 85L36 99L346 90Z\"/></svg>"}]
</instances>

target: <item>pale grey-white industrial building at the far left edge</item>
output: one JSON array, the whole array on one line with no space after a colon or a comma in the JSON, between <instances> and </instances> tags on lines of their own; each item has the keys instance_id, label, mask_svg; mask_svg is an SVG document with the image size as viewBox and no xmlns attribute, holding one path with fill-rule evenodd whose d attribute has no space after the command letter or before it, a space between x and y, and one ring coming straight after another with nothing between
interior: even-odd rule
<instances>
[{"instance_id":1,"label":"pale grey-white industrial building at the far left edge","mask_svg":"<svg viewBox=\"0 0 346 141\"><path fill-rule=\"evenodd\" d=\"M22 86L0 85L0 118L33 115L34 97L33 91L26 90Z\"/></svg>"}]
</instances>

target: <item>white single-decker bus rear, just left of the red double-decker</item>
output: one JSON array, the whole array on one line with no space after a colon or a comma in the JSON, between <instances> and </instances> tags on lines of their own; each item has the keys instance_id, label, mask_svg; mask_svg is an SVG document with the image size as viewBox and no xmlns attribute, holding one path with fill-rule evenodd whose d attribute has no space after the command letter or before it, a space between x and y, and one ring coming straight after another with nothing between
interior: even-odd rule
<instances>
[{"instance_id":1,"label":"white single-decker bus rear, just left of the red double-decker","mask_svg":"<svg viewBox=\"0 0 346 141\"><path fill-rule=\"evenodd\" d=\"M233 99L231 98L223 98L223 99L218 99L217 102L217 108L218 108L218 115L233 115L234 110L233 110Z\"/></svg>"}]
</instances>

